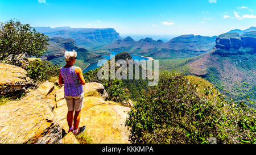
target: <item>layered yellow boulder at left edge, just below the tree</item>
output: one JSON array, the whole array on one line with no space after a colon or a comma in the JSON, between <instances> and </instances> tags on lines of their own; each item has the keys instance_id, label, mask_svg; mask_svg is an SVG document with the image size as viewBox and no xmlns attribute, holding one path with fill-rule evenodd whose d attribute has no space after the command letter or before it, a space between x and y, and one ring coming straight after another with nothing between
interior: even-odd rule
<instances>
[{"instance_id":1,"label":"layered yellow boulder at left edge, just below the tree","mask_svg":"<svg viewBox=\"0 0 256 155\"><path fill-rule=\"evenodd\" d=\"M0 64L0 94L25 91L26 87L33 85L32 79L27 77L26 70L9 64Z\"/></svg>"}]
</instances>

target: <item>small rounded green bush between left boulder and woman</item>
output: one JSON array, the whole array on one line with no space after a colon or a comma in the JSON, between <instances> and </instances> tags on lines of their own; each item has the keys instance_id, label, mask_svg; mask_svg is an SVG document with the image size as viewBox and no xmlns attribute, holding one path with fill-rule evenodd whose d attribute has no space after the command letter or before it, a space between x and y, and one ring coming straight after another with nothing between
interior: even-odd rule
<instances>
[{"instance_id":1,"label":"small rounded green bush between left boulder and woman","mask_svg":"<svg viewBox=\"0 0 256 155\"><path fill-rule=\"evenodd\" d=\"M27 66L28 77L34 81L44 82L51 77L59 76L59 65L52 65L49 61L34 60Z\"/></svg>"}]
</instances>

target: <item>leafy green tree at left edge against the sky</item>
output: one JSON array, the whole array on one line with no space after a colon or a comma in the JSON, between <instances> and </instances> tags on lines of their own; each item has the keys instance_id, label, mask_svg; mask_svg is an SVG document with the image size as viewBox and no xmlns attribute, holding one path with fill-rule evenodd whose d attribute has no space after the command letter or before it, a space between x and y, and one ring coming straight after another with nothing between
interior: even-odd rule
<instances>
[{"instance_id":1,"label":"leafy green tree at left edge against the sky","mask_svg":"<svg viewBox=\"0 0 256 155\"><path fill-rule=\"evenodd\" d=\"M48 36L36 32L30 24L10 20L0 24L0 61L16 60L23 55L40 57L47 51Z\"/></svg>"}]
</instances>

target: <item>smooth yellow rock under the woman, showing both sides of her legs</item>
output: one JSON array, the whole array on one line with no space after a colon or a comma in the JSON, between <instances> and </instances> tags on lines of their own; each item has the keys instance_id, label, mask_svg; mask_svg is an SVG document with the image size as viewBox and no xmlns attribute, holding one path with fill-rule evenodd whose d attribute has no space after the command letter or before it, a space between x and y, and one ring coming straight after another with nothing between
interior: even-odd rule
<instances>
[{"instance_id":1,"label":"smooth yellow rock under the woman, showing both sides of her legs","mask_svg":"<svg viewBox=\"0 0 256 155\"><path fill-rule=\"evenodd\" d=\"M85 84L80 126L85 125L86 130L79 136L79 142L129 143L130 132L125 122L130 107L106 101L104 92L105 89L100 83ZM64 95L64 91L56 91L56 97L61 95ZM65 103L65 99L59 100L56 104L61 102ZM68 108L65 105L53 110L53 114L66 133L68 132L67 112Z\"/></svg>"}]
</instances>

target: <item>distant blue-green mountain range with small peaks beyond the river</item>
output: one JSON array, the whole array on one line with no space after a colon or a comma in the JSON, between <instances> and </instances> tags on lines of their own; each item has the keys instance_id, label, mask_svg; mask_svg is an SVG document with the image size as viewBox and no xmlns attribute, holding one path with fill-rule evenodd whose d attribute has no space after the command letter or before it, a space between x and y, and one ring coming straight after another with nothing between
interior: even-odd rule
<instances>
[{"instance_id":1,"label":"distant blue-green mountain range with small peaks beyond the river","mask_svg":"<svg viewBox=\"0 0 256 155\"><path fill-rule=\"evenodd\" d=\"M184 58L201 55L209 51L216 45L215 39L216 36L181 35L164 43L162 40L156 41L150 37L139 41L135 41L131 37L126 37L100 49L124 51L153 58Z\"/></svg>"}]
</instances>

